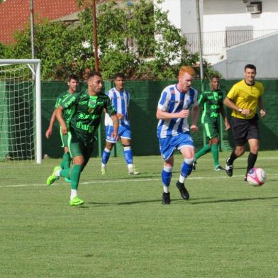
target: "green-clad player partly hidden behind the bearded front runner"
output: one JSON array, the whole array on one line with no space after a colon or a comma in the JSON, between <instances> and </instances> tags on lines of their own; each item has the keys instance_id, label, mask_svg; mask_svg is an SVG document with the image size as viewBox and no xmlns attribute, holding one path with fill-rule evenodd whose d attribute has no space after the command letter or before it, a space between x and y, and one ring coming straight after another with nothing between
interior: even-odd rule
<instances>
[{"instance_id":1,"label":"green-clad player partly hidden behind the bearded front runner","mask_svg":"<svg viewBox=\"0 0 278 278\"><path fill-rule=\"evenodd\" d=\"M67 86L69 87L67 91L64 91L62 94L60 94L57 97L57 101L55 104L55 109L62 103L62 101L67 98L67 96L70 96L71 94L74 94L78 90L78 77L76 74L70 74L70 76L67 79ZM65 122L67 125L70 122L70 118L72 116L72 109L65 109L63 111L63 118L65 119ZM52 116L50 118L50 123L48 126L48 130L46 130L45 137L50 138L50 135L52 133L52 128L54 126L54 123L56 121L56 115L55 111L53 111ZM70 157L70 152L69 148L67 148L67 134L62 134L61 127L60 127L60 136L62 140L62 148L64 148L64 155L62 156L62 163L60 165L61 169L67 169L70 168L70 162L71 162L71 157Z\"/></svg>"}]
</instances>

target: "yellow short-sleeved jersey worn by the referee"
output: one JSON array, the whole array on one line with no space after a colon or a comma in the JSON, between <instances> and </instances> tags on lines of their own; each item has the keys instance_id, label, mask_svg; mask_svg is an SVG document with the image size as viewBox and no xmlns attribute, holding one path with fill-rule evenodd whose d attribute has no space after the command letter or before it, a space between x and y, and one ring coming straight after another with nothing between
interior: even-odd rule
<instances>
[{"instance_id":1,"label":"yellow short-sleeved jersey worn by the referee","mask_svg":"<svg viewBox=\"0 0 278 278\"><path fill-rule=\"evenodd\" d=\"M235 83L227 94L227 97L240 109L249 109L250 115L245 116L242 113L233 110L232 116L235 118L250 119L255 116L257 104L260 96L264 94L265 88L262 83L255 81L255 84L248 85L245 79Z\"/></svg>"}]
</instances>

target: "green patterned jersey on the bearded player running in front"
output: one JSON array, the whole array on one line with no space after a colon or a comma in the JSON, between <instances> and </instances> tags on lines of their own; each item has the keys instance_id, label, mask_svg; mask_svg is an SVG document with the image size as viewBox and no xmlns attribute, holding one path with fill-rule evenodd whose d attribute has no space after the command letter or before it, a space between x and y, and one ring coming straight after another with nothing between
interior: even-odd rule
<instances>
[{"instance_id":1,"label":"green patterned jersey on the bearded player running in front","mask_svg":"<svg viewBox=\"0 0 278 278\"><path fill-rule=\"evenodd\" d=\"M63 109L74 108L74 114L70 120L70 131L86 144L94 141L94 133L101 123L104 109L109 116L116 114L106 94L89 96L87 90L68 96L60 105Z\"/></svg>"}]
</instances>

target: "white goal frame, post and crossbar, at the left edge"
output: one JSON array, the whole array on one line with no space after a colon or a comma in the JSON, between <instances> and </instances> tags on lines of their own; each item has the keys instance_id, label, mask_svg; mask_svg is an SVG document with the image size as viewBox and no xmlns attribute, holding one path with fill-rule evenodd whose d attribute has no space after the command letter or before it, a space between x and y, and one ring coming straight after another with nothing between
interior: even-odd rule
<instances>
[{"instance_id":1,"label":"white goal frame, post and crossbar, at the left edge","mask_svg":"<svg viewBox=\"0 0 278 278\"><path fill-rule=\"evenodd\" d=\"M0 65L27 64L35 79L35 160L42 162L40 59L0 59Z\"/></svg>"}]
</instances>

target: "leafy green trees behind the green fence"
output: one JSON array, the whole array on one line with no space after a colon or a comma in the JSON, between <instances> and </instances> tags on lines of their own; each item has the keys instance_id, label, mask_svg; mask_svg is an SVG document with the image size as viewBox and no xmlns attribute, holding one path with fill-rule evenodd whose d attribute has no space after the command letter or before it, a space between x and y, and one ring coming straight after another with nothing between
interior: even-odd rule
<instances>
[{"instance_id":1,"label":"leafy green trees behind the green fence","mask_svg":"<svg viewBox=\"0 0 278 278\"><path fill-rule=\"evenodd\" d=\"M43 79L64 79L69 72L81 75L87 67L94 69L91 3L77 1L84 7L78 25L60 21L35 25L35 57L42 60ZM99 68L105 79L116 72L128 78L174 78L181 65L196 65L199 60L197 53L187 51L187 40L169 23L167 13L152 1L99 5L97 31ZM15 38L9 47L0 45L0 56L30 58L30 29L16 33Z\"/></svg>"}]
</instances>

